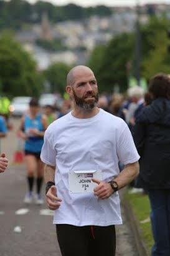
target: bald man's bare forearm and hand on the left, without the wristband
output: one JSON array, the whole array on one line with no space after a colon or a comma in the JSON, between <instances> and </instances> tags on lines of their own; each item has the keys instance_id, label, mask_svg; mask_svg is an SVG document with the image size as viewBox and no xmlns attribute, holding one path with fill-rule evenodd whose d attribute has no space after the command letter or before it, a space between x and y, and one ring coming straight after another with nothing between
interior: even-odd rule
<instances>
[{"instance_id":1,"label":"bald man's bare forearm and hand on the left, without the wristband","mask_svg":"<svg viewBox=\"0 0 170 256\"><path fill-rule=\"evenodd\" d=\"M45 183L54 182L55 166L45 165L44 179ZM62 200L57 197L57 188L53 185L49 188L46 194L47 205L50 210L56 210L60 207Z\"/></svg>"}]
</instances>

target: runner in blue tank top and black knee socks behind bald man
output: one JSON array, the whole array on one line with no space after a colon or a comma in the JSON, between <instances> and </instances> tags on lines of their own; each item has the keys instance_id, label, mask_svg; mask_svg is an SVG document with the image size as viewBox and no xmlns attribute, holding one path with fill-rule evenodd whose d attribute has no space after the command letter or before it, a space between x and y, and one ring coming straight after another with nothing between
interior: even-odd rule
<instances>
[{"instance_id":1,"label":"runner in blue tank top and black knee socks behind bald man","mask_svg":"<svg viewBox=\"0 0 170 256\"><path fill-rule=\"evenodd\" d=\"M42 204L40 190L43 182L43 163L40 160L40 151L44 143L44 132L47 129L47 119L39 113L39 103L32 99L29 103L29 112L22 116L19 135L25 140L24 150L27 167L27 182L29 192L24 198L25 203L31 203L33 199L34 175L37 172L37 194L35 203Z\"/></svg>"}]
</instances>

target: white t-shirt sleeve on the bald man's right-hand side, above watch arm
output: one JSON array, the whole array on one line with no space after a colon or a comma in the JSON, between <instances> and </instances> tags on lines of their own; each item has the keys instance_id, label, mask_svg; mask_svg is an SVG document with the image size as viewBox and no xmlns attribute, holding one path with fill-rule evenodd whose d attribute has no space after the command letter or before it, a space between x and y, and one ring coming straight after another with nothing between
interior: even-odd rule
<instances>
[{"instance_id":1,"label":"white t-shirt sleeve on the bald man's right-hand side, above watch arm","mask_svg":"<svg viewBox=\"0 0 170 256\"><path fill-rule=\"evenodd\" d=\"M128 126L125 127L117 142L117 155L124 165L135 163L140 158Z\"/></svg>"}]
</instances>

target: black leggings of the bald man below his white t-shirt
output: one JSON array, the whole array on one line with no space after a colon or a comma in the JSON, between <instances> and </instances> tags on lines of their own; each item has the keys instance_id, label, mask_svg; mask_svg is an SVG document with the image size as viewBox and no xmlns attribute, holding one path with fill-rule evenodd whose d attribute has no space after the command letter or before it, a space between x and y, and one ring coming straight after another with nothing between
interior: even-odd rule
<instances>
[{"instance_id":1,"label":"black leggings of the bald man below his white t-shirt","mask_svg":"<svg viewBox=\"0 0 170 256\"><path fill-rule=\"evenodd\" d=\"M56 225L62 256L115 256L115 225L107 227Z\"/></svg>"}]
</instances>

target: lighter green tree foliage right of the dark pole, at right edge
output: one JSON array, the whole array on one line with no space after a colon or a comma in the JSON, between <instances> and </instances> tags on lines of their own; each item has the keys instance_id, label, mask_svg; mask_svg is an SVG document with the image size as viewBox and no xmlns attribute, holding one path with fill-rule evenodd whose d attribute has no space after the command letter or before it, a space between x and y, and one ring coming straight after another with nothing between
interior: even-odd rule
<instances>
[{"instance_id":1,"label":"lighter green tree foliage right of the dark pole, at right edge","mask_svg":"<svg viewBox=\"0 0 170 256\"><path fill-rule=\"evenodd\" d=\"M159 72L169 73L170 54L167 31L170 21L164 18L151 18L142 28L143 63L142 74L150 79Z\"/></svg>"}]
</instances>

